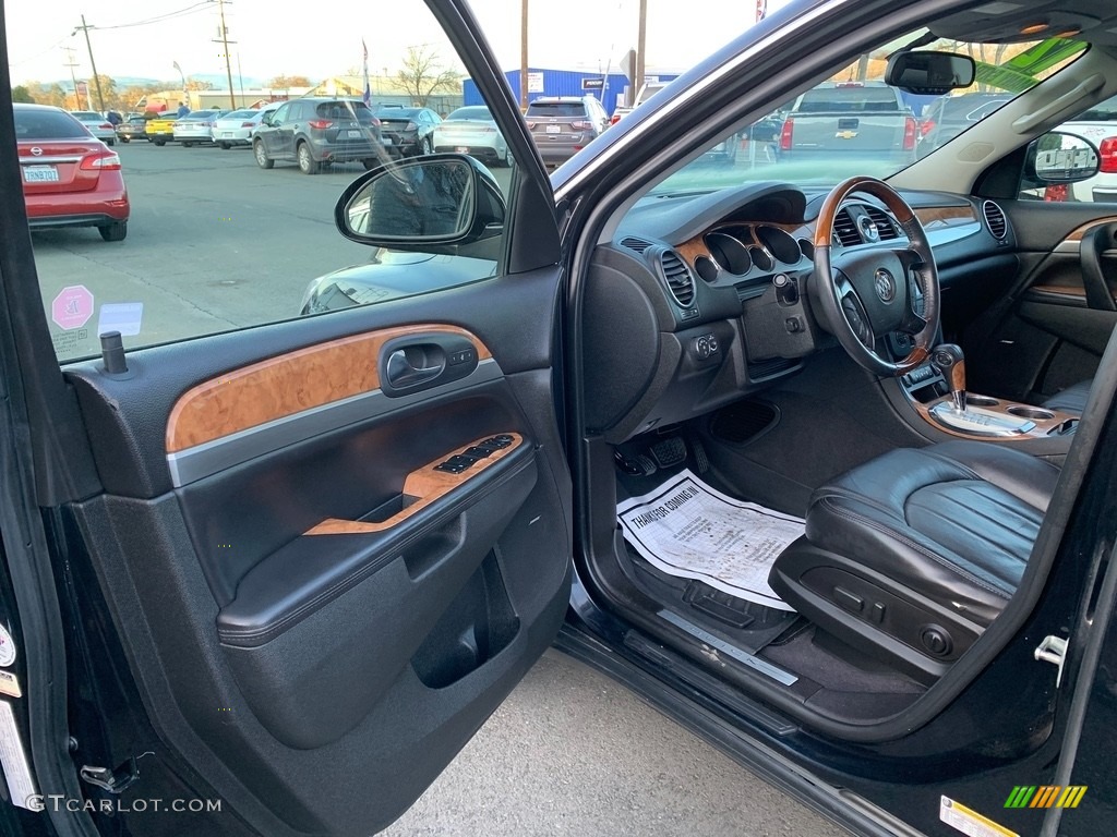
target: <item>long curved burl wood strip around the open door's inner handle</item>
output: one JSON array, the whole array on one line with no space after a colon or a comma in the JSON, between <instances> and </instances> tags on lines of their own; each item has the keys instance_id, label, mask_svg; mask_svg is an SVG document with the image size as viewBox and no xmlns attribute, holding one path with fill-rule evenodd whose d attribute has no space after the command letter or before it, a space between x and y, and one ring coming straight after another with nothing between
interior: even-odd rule
<instances>
[{"instance_id":1,"label":"long curved burl wood strip around the open door's inner handle","mask_svg":"<svg viewBox=\"0 0 1117 837\"><path fill-rule=\"evenodd\" d=\"M474 344L478 360L493 357L472 334L442 324L401 326L307 346L183 393L166 421L166 452L378 389L381 347L395 337L421 334L460 335Z\"/></svg>"}]
</instances>

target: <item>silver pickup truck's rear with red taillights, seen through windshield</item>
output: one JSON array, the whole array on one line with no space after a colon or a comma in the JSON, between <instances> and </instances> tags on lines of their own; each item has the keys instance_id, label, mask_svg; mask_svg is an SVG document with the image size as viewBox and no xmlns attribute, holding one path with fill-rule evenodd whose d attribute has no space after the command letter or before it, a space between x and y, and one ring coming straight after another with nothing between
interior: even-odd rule
<instances>
[{"instance_id":1,"label":"silver pickup truck's rear with red taillights, seen through windshield","mask_svg":"<svg viewBox=\"0 0 1117 837\"><path fill-rule=\"evenodd\" d=\"M918 125L900 92L884 81L823 84L795 99L780 132L780 160L916 158Z\"/></svg>"}]
</instances>

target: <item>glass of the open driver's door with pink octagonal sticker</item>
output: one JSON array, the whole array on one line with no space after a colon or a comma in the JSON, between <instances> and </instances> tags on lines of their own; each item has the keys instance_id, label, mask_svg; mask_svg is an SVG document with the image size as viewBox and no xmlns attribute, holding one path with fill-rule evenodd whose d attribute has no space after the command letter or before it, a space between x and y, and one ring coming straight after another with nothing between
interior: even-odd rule
<instances>
[{"instance_id":1,"label":"glass of the open driver's door with pink octagonal sticker","mask_svg":"<svg viewBox=\"0 0 1117 837\"><path fill-rule=\"evenodd\" d=\"M334 225L342 192L366 170L435 145L480 161L497 194L516 176L515 155L491 119L443 132L422 115L485 102L421 0L395 4L390 27L373 7L354 8L344 31L328 16L226 6L236 35L228 56L212 45L216 3L173 19L136 12L133 20L127 8L105 18L130 26L90 26L86 50L84 38L69 39L69 23L50 25L34 4L6 4L12 81L18 98L34 103L17 105L20 176L61 362L98 355L103 333L118 331L132 349L497 275L499 227L480 243L426 253L359 243ZM59 39L79 47L68 54L73 78L59 70L51 47ZM98 128L109 110L125 123L156 114L173 122L180 103L255 113L283 102L275 112L281 129L226 122L221 136L191 134L189 145L170 133L156 144ZM54 108L61 133L80 142L44 133L55 123L36 107ZM381 125L374 114L390 108L414 117L411 127L408 119ZM67 110L89 112L88 128Z\"/></svg>"}]
</instances>

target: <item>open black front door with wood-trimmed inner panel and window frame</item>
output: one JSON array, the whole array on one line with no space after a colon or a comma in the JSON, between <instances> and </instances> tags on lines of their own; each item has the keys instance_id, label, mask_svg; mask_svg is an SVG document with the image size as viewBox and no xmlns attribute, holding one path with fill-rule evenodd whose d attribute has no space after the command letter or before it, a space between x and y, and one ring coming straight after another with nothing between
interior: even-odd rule
<instances>
[{"instance_id":1,"label":"open black front door with wood-trimmed inner panel and window frame","mask_svg":"<svg viewBox=\"0 0 1117 837\"><path fill-rule=\"evenodd\" d=\"M90 231L52 233L32 256L20 200L29 163L16 155L10 79L0 85L3 618L18 648L6 671L21 684L3 702L38 809L51 793L94 802L47 805L59 834L88 834L105 816L134 835L165 833L159 806L130 806L152 799L206 800L175 809L182 834L379 830L563 622L572 500L555 411L553 195L468 13L450 0L430 3L433 18L410 6L427 16L418 39L448 45L443 59L457 51L507 140L510 167L494 163L504 215L479 254L446 246L391 264L363 250L373 263L307 291L303 312L314 316L295 316L296 294L258 324L175 331L197 314L185 291L181 309L160 314L173 295L135 300L124 278L48 275L51 248L86 246ZM178 152L131 146L125 177L141 153ZM307 184L336 196L365 176L324 166L308 181L255 163L242 155L247 169L228 176L286 182L307 201ZM397 161L378 151L365 164L383 173ZM156 221L135 201L134 227ZM242 243L281 262L300 230L328 221ZM126 248L113 253L126 259L153 242L89 246ZM390 291L379 268L398 282ZM194 286L252 278L207 270ZM264 308L279 288L262 290ZM102 304L130 299L163 329L150 337L136 320L115 329L123 346L102 346ZM29 799L13 801L36 809Z\"/></svg>"}]
</instances>

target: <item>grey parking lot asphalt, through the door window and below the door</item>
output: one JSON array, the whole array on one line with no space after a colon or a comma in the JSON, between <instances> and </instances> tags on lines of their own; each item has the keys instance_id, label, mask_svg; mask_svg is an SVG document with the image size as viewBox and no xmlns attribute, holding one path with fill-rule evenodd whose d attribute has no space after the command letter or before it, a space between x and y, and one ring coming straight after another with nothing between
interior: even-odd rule
<instances>
[{"instance_id":1,"label":"grey parking lot asphalt, through the door window and below the door","mask_svg":"<svg viewBox=\"0 0 1117 837\"><path fill-rule=\"evenodd\" d=\"M359 164L312 177L294 165L260 170L247 148L136 142L115 150L132 200L127 239L106 243L96 230L77 229L36 232L32 242L44 297L80 282L98 305L141 301L144 344L293 318L314 277L370 257L333 224L334 203L363 171ZM66 357L94 354L95 331L61 348ZM626 689L548 652L385 834L846 831Z\"/></svg>"}]
</instances>

